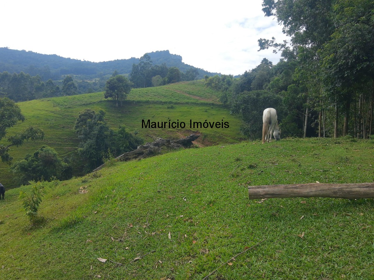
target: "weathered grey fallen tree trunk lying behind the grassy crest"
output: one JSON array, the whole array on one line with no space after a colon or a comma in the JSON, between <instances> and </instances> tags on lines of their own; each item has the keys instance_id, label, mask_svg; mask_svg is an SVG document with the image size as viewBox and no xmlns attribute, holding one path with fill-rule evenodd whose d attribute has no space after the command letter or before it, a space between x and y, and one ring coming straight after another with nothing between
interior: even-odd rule
<instances>
[{"instance_id":1,"label":"weathered grey fallen tree trunk lying behind the grassy crest","mask_svg":"<svg viewBox=\"0 0 374 280\"><path fill-rule=\"evenodd\" d=\"M150 135L148 135L150 136ZM197 138L199 138L200 135L196 134L190 134L186 138L181 138L177 140L170 140L170 139L163 139L159 137L153 137L153 142L145 143L145 145L138 146L136 150L133 150L131 152L124 153L114 160L116 161L130 161L131 159L141 159L141 158L148 158L150 156L157 155L161 152L162 147L177 149L177 148L187 148L190 147L193 143L192 141L195 141ZM94 169L93 171L98 171L102 167L104 167L105 164L100 165L98 168Z\"/></svg>"}]
</instances>

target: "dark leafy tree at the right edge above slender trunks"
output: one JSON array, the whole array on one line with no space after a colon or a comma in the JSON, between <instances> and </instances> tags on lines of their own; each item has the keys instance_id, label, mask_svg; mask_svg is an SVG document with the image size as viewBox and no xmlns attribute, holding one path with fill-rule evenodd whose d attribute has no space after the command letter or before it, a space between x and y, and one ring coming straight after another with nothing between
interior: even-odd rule
<instances>
[{"instance_id":1,"label":"dark leafy tree at the right edge above slender trunks","mask_svg":"<svg viewBox=\"0 0 374 280\"><path fill-rule=\"evenodd\" d=\"M336 95L345 112L343 136L348 133L350 105L358 99L358 123L361 125L358 125L357 132L365 138L365 125L370 119L368 132L371 134L373 123L374 2L340 0L334 5L333 14L336 28L319 51L322 57L321 77L330 91L340 93ZM364 112L365 99L368 112Z\"/></svg>"}]
</instances>

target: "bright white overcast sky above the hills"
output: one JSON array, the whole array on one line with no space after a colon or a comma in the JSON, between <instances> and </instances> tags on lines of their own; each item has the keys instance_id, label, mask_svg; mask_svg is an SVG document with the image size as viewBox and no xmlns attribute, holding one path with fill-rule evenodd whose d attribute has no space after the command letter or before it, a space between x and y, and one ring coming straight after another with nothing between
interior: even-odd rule
<instances>
[{"instance_id":1,"label":"bright white overcast sky above the hills","mask_svg":"<svg viewBox=\"0 0 374 280\"><path fill-rule=\"evenodd\" d=\"M222 4L221 4L222 3ZM0 47L93 62L169 50L209 72L242 74L266 57L260 38L288 39L254 1L2 1Z\"/></svg>"}]
</instances>

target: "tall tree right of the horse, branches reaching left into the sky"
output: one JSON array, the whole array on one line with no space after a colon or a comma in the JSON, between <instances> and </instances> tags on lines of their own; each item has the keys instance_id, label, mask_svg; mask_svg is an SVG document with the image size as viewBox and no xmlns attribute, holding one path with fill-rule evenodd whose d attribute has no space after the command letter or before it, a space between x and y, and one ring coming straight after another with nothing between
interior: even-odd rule
<instances>
[{"instance_id":1,"label":"tall tree right of the horse, branches reaching left into the sky","mask_svg":"<svg viewBox=\"0 0 374 280\"><path fill-rule=\"evenodd\" d=\"M332 6L334 0L263 0L263 12L266 16L276 16L278 22L283 25L283 32L291 37L293 49L286 42L275 43L272 40L260 39L260 49L274 47L281 50L283 57L296 55L299 65L297 74L300 82L305 84L304 92L304 135L306 135L307 119L309 118L310 104L315 103L314 86L319 79L318 50L329 40L334 31L332 21ZM319 92L319 91L317 91Z\"/></svg>"}]
</instances>

